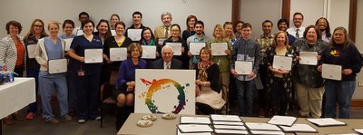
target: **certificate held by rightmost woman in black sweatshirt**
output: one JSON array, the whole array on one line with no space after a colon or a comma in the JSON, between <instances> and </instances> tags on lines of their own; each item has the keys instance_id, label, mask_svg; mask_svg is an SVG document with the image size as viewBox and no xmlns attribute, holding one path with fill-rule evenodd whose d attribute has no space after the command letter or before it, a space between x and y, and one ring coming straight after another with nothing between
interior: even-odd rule
<instances>
[{"instance_id":1,"label":"certificate held by rightmost woman in black sweatshirt","mask_svg":"<svg viewBox=\"0 0 363 135\"><path fill-rule=\"evenodd\" d=\"M323 63L321 66L321 77L330 80L341 80L341 66Z\"/></svg>"}]
</instances>

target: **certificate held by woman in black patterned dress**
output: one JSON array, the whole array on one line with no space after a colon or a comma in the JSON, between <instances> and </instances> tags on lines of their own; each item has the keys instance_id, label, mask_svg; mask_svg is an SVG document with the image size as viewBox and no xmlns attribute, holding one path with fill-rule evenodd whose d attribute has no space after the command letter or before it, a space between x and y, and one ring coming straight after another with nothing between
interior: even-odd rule
<instances>
[{"instance_id":1,"label":"certificate held by woman in black patterned dress","mask_svg":"<svg viewBox=\"0 0 363 135\"><path fill-rule=\"evenodd\" d=\"M273 56L272 68L281 70L291 70L292 58L286 56Z\"/></svg>"}]
</instances>

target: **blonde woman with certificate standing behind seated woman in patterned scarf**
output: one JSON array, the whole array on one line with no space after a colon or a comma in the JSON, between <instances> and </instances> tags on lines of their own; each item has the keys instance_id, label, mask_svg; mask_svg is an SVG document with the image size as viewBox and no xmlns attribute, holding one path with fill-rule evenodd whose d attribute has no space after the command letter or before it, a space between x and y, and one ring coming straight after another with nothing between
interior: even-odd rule
<instances>
[{"instance_id":1,"label":"blonde woman with certificate standing behind seated woman in patterned scarf","mask_svg":"<svg viewBox=\"0 0 363 135\"><path fill-rule=\"evenodd\" d=\"M231 69L230 69L230 64L231 64L231 50L232 50L232 43L230 42L229 39L227 38L223 38L223 27L221 26L221 24L217 24L214 26L214 30L213 30L213 36L214 39L211 39L211 41L209 41L207 43L207 47L211 49L211 51L221 51L221 53L223 54L216 54L213 55L213 62L217 63L219 69L220 69L220 85L224 86L221 90L222 90L222 97L224 101L227 101L227 95L229 94L229 92L227 92L228 89L230 87L230 76L231 76ZM231 31L231 34L233 34L233 32ZM225 50L220 50L217 48L217 46L223 46L223 48L225 48ZM213 48L215 47L215 49ZM214 50L213 50L214 49ZM223 111L225 112L225 111Z\"/></svg>"}]
</instances>

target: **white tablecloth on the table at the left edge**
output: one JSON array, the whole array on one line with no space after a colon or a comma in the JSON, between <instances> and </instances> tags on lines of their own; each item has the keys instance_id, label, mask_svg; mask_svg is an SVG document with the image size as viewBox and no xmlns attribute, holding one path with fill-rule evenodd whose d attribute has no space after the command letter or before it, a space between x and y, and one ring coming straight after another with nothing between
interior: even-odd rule
<instances>
[{"instance_id":1,"label":"white tablecloth on the table at the left edge","mask_svg":"<svg viewBox=\"0 0 363 135\"><path fill-rule=\"evenodd\" d=\"M0 85L0 119L35 101L34 78L15 78Z\"/></svg>"}]
</instances>

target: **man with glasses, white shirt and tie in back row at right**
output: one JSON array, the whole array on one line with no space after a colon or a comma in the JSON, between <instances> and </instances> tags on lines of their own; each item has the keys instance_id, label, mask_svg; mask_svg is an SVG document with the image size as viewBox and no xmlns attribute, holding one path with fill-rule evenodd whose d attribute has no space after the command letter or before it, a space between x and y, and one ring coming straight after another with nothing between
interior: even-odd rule
<instances>
[{"instance_id":1,"label":"man with glasses, white shirt and tie in back row at right","mask_svg":"<svg viewBox=\"0 0 363 135\"><path fill-rule=\"evenodd\" d=\"M293 36L295 36L296 39L299 39L302 37L305 27L302 26L302 22L304 21L304 15L297 12L293 15L293 22L294 26L290 27L287 32Z\"/></svg>"}]
</instances>

